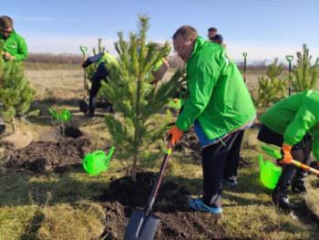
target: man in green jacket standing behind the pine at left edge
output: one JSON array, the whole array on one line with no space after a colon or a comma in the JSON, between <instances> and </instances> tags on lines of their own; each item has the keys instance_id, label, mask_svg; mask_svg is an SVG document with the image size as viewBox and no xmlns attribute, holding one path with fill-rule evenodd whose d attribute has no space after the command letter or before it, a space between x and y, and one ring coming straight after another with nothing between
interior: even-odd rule
<instances>
[{"instance_id":1,"label":"man in green jacket standing behind the pine at left edge","mask_svg":"<svg viewBox=\"0 0 319 240\"><path fill-rule=\"evenodd\" d=\"M0 16L0 42L4 44L2 55L5 60L25 60L27 47L25 38L15 32L10 16Z\"/></svg>"}]
</instances>

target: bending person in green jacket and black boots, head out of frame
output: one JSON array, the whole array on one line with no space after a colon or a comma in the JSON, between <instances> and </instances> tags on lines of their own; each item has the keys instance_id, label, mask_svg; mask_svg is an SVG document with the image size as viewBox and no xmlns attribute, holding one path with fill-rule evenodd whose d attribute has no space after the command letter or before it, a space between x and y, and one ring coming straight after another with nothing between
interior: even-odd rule
<instances>
[{"instance_id":1,"label":"bending person in green jacket and black boots, head out of frame","mask_svg":"<svg viewBox=\"0 0 319 240\"><path fill-rule=\"evenodd\" d=\"M283 99L263 113L261 121L258 139L283 151L283 159L278 160L283 172L272 193L273 203L284 212L291 211L297 205L289 202L289 186L294 193L306 192L306 172L296 171L292 159L309 164L313 151L319 161L319 92L307 90Z\"/></svg>"}]
</instances>

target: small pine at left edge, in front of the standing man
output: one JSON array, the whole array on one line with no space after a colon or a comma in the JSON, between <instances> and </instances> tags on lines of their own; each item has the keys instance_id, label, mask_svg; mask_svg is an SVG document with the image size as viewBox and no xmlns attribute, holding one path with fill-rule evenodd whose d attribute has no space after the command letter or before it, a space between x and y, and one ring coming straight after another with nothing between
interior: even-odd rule
<instances>
[{"instance_id":1,"label":"small pine at left edge, in front of the standing man","mask_svg":"<svg viewBox=\"0 0 319 240\"><path fill-rule=\"evenodd\" d=\"M0 54L2 49L3 45L0 46ZM26 115L34 96L35 90L29 85L22 64L0 57L0 102L4 104L5 122L12 123L15 129L15 117Z\"/></svg>"}]
</instances>

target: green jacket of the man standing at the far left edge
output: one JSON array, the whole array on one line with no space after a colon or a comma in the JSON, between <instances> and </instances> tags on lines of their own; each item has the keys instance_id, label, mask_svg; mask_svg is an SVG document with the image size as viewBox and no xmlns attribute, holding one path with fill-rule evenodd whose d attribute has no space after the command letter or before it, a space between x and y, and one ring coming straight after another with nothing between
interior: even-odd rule
<instances>
[{"instance_id":1,"label":"green jacket of the man standing at the far left edge","mask_svg":"<svg viewBox=\"0 0 319 240\"><path fill-rule=\"evenodd\" d=\"M12 31L8 38L0 35L0 42L4 43L4 51L14 56L16 60L25 60L27 57L27 47L25 38L21 37L15 30Z\"/></svg>"}]
</instances>

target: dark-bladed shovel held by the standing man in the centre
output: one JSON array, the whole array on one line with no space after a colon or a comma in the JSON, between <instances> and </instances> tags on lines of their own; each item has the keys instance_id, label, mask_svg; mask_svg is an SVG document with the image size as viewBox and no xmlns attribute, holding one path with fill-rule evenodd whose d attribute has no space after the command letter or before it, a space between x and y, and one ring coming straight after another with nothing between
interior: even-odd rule
<instances>
[{"instance_id":1,"label":"dark-bladed shovel held by the standing man in the centre","mask_svg":"<svg viewBox=\"0 0 319 240\"><path fill-rule=\"evenodd\" d=\"M149 196L149 202L145 211L135 210L129 219L129 224L125 231L124 240L150 240L153 239L156 230L160 224L160 218L151 214L152 206L160 189L160 183L163 179L164 171L166 169L169 157L171 154L171 144L168 146L163 162L160 166L160 173L156 179L155 185Z\"/></svg>"}]
</instances>

